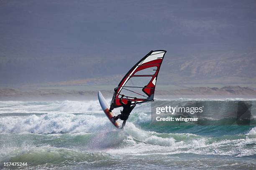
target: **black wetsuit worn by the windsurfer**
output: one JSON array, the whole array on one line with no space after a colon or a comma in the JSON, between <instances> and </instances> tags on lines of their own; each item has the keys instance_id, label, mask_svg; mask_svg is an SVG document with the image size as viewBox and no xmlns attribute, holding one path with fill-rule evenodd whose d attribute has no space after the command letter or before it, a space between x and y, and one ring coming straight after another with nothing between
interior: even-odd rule
<instances>
[{"instance_id":1,"label":"black wetsuit worn by the windsurfer","mask_svg":"<svg viewBox=\"0 0 256 170\"><path fill-rule=\"evenodd\" d=\"M115 120L121 119L123 120L123 124L122 124L122 128L125 126L126 120L128 119L131 111L134 109L134 107L136 106L136 101L134 105L127 105L124 104L122 102L123 97L120 98L119 102L121 103L121 105L123 106L123 111L121 111L121 114L115 116Z\"/></svg>"}]
</instances>

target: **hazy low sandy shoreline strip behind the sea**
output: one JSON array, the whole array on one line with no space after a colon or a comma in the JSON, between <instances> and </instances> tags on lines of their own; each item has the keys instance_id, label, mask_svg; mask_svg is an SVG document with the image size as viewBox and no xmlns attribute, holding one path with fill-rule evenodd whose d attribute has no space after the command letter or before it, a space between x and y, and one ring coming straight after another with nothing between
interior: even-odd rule
<instances>
[{"instance_id":1,"label":"hazy low sandy shoreline strip behind the sea","mask_svg":"<svg viewBox=\"0 0 256 170\"><path fill-rule=\"evenodd\" d=\"M101 90L105 97L112 97L113 90ZM165 96L165 97L164 97ZM250 87L225 86L225 87L192 87L179 90L157 89L155 97L166 96L195 97L195 96L225 96L225 97L256 97L256 90ZM97 90L61 90L61 89L34 89L18 90L14 88L0 88L0 101L3 100L95 100Z\"/></svg>"}]
</instances>

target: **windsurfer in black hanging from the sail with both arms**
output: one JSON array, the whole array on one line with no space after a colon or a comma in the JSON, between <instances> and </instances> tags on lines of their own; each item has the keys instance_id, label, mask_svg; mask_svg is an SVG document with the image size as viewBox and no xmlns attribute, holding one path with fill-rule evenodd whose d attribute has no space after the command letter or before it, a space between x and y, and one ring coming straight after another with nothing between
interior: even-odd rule
<instances>
[{"instance_id":1,"label":"windsurfer in black hanging from the sail with both arms","mask_svg":"<svg viewBox=\"0 0 256 170\"><path fill-rule=\"evenodd\" d=\"M121 110L121 114L114 116L111 118L111 120L113 122L115 122L118 119L123 120L123 124L122 124L122 128L123 129L125 127L125 123L126 120L128 119L131 111L134 109L134 107L136 106L136 97L134 98L135 102L133 105L131 105L131 100L127 100L127 104L125 104L122 99L123 99L124 95L122 95L122 97L120 98L119 102L121 103L121 105L123 106L123 111Z\"/></svg>"}]
</instances>

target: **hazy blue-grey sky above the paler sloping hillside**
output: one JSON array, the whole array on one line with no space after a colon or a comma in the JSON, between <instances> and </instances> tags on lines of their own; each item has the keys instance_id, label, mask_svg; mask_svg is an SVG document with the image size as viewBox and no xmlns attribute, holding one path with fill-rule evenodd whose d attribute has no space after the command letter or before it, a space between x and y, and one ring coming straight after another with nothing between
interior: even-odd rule
<instances>
[{"instance_id":1,"label":"hazy blue-grey sky above the paler sloping hillside","mask_svg":"<svg viewBox=\"0 0 256 170\"><path fill-rule=\"evenodd\" d=\"M255 0L0 0L0 84L125 73L150 50L252 52L255 9Z\"/></svg>"}]
</instances>

